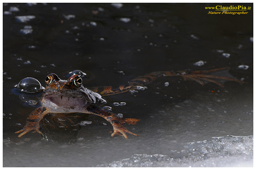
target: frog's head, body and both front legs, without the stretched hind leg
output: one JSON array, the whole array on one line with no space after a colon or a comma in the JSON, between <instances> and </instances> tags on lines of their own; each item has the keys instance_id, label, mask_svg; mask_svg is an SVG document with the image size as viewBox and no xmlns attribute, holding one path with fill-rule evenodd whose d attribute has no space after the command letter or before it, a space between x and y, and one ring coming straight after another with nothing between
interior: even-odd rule
<instances>
[{"instance_id":1,"label":"frog's head, body and both front legs, without the stretched hind leg","mask_svg":"<svg viewBox=\"0 0 256 170\"><path fill-rule=\"evenodd\" d=\"M139 119L122 119L116 114L101 108L100 106L106 103L106 100L100 94L85 88L79 75L74 74L68 80L61 80L57 74L51 73L47 75L45 81L46 87L43 90L41 106L30 113L24 128L15 132L16 134L21 133L18 137L32 130L42 134L39 130L39 122L49 113L94 114L111 123L113 126L111 136L118 134L126 139L128 138L127 133L139 136L130 132L125 126L126 123L134 125Z\"/></svg>"}]
</instances>

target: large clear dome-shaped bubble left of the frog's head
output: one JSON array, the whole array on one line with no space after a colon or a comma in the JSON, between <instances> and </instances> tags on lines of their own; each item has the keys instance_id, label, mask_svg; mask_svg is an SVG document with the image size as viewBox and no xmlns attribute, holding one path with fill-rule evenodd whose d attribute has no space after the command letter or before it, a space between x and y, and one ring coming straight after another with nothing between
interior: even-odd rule
<instances>
[{"instance_id":1,"label":"large clear dome-shaped bubble left of the frog's head","mask_svg":"<svg viewBox=\"0 0 256 170\"><path fill-rule=\"evenodd\" d=\"M17 87L18 89L20 89L21 91L24 92L38 92L40 90L43 90L44 87L42 87L41 83L32 77L27 77L22 79L18 85L16 85L15 87Z\"/></svg>"}]
</instances>

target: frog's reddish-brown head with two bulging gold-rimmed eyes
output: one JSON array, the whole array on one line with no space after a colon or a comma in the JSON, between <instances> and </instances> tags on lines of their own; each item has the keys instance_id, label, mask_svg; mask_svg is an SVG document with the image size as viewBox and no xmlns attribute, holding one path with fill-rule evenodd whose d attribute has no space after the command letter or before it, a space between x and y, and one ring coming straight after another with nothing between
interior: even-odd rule
<instances>
[{"instance_id":1,"label":"frog's reddish-brown head with two bulging gold-rimmed eyes","mask_svg":"<svg viewBox=\"0 0 256 170\"><path fill-rule=\"evenodd\" d=\"M71 75L68 80L61 80L56 74L51 73L46 76L46 88L44 95L48 96L68 96L68 95L81 95L84 91L82 79L79 75ZM75 97L75 96L74 96Z\"/></svg>"}]
</instances>

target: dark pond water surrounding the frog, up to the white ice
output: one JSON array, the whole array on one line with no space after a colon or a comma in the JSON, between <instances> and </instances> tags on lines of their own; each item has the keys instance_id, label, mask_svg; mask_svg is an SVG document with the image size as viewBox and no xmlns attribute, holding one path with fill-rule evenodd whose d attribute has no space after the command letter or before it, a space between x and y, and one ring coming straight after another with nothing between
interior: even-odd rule
<instances>
[{"instance_id":1,"label":"dark pond water surrounding the frog, up to the white ice","mask_svg":"<svg viewBox=\"0 0 256 170\"><path fill-rule=\"evenodd\" d=\"M205 7L216 5L219 4L4 4L4 166L96 166L129 158L134 153L171 155L170 150L182 148L179 142L206 140L214 135L252 135L253 6L239 4L252 7L244 15L208 14ZM203 65L195 66L198 61L203 61ZM228 81L225 87L213 83L201 86L178 77L159 78L143 91L105 97L106 106L112 107L113 112L140 119L137 125L128 126L140 137L111 137L111 125L103 125L107 122L91 115L88 120L92 123L76 131L75 138L79 140L73 145L58 140L47 142L37 133L30 132L22 138L14 134L38 106L30 106L13 91L26 77L36 78L45 86L44 78L49 73L67 79L69 72L79 69L87 73L84 86L95 87L126 84L155 71L221 67L230 67L230 75L248 84ZM210 107L219 105L220 111L229 107L239 113L224 116L231 124L220 127L222 120L214 120L221 115L217 108L215 112L199 109L200 119L193 117L194 112L185 113L187 108L174 112L184 101L206 101ZM114 102L126 105L114 106ZM238 121L244 113L251 114ZM211 119L212 126L218 129L216 134L210 135L210 128L200 134L202 127L195 126L191 134L184 136L190 128L183 125L191 117L197 124ZM168 128L173 128L171 132L176 136L165 136ZM58 135L62 134L65 132ZM167 143L170 145L166 148ZM26 160L20 160L21 157Z\"/></svg>"}]
</instances>

